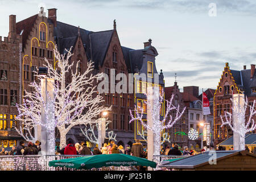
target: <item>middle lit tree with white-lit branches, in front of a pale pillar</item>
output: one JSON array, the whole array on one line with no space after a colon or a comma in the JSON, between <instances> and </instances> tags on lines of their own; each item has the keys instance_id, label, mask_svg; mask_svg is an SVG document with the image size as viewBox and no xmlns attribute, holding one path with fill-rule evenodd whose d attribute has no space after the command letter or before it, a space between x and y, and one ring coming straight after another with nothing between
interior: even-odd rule
<instances>
[{"instance_id":1,"label":"middle lit tree with white-lit branches, in front of a pale pillar","mask_svg":"<svg viewBox=\"0 0 256 182\"><path fill-rule=\"evenodd\" d=\"M159 92L158 92L159 93ZM146 94L147 98L151 97L150 94ZM159 94L158 94L159 96ZM172 97L170 101L164 100L163 93L159 96L159 98L156 98L158 96L152 97L152 104L154 107L151 107L151 104L147 101L144 101L145 104L147 104L147 114L151 114L152 120L154 125L150 126L146 123L143 122L143 108L137 107L135 105L134 113L135 116L133 115L132 111L130 110L130 116L132 121L136 122L139 121L141 122L141 125L145 127L145 129L152 131L154 135L154 155L159 155L160 154L160 145L161 145L161 134L163 133L164 130L170 129L174 124L180 120L181 116L183 115L185 111L185 107L183 109L180 109L180 106L177 105L175 106L172 104L174 102L174 94L172 94ZM164 118L162 121L159 119L160 115L160 109L162 105L164 104L164 101L166 101L166 113L164 114ZM164 138L167 140L167 135L164 134Z\"/></svg>"}]
</instances>

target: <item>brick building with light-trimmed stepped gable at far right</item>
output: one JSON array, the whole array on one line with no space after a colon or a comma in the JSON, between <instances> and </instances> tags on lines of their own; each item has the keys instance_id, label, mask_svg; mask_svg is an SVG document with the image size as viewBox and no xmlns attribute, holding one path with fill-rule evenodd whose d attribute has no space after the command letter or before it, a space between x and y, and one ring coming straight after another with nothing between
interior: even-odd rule
<instances>
[{"instance_id":1,"label":"brick building with light-trimmed stepped gable at far right","mask_svg":"<svg viewBox=\"0 0 256 182\"><path fill-rule=\"evenodd\" d=\"M237 94L240 90L248 98L249 104L252 104L256 98L255 83L255 64L251 64L250 69L246 69L246 65L244 65L241 71L230 69L229 64L225 64L220 82L218 82L214 93L214 144L218 144L233 135L232 129L226 126L221 127L220 118L220 115L224 115L225 111L232 111L232 102L230 101L232 93ZM247 112L246 118L248 116L249 113Z\"/></svg>"}]
</instances>

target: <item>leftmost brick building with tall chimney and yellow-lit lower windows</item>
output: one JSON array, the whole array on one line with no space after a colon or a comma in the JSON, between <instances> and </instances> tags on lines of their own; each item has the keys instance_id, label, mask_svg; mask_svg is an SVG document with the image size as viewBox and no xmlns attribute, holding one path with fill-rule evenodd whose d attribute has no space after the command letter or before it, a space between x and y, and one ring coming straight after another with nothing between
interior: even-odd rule
<instances>
[{"instance_id":1,"label":"leftmost brick building with tall chimney and yellow-lit lower windows","mask_svg":"<svg viewBox=\"0 0 256 182\"><path fill-rule=\"evenodd\" d=\"M20 42L15 15L9 17L9 35L0 36L0 146L12 147L21 137L15 132L16 103L20 103Z\"/></svg>"}]
</instances>

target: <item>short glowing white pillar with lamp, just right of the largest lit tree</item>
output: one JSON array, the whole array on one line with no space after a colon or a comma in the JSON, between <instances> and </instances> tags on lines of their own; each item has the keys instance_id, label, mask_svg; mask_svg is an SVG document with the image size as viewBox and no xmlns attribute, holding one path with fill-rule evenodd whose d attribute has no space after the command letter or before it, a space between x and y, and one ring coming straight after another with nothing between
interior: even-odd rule
<instances>
[{"instance_id":1,"label":"short glowing white pillar with lamp, just right of the largest lit tree","mask_svg":"<svg viewBox=\"0 0 256 182\"><path fill-rule=\"evenodd\" d=\"M102 142L106 137L106 116L108 115L107 111L101 113L101 118L98 120L98 148L102 147Z\"/></svg>"}]
</instances>

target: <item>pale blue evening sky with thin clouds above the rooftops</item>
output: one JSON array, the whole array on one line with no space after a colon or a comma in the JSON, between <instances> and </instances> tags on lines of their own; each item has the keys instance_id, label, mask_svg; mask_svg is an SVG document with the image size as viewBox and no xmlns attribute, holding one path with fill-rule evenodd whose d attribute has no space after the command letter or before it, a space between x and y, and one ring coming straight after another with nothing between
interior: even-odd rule
<instances>
[{"instance_id":1,"label":"pale blue evening sky with thin clouds above the rooftops","mask_svg":"<svg viewBox=\"0 0 256 182\"><path fill-rule=\"evenodd\" d=\"M208 15L216 3L217 16ZM251 0L0 0L0 36L7 36L9 15L16 21L57 9L57 20L90 31L113 29L117 21L122 46L141 49L152 39L156 68L166 86L196 85L216 89L224 65L250 68L256 60L256 2ZM46 14L47 15L47 14Z\"/></svg>"}]
</instances>

